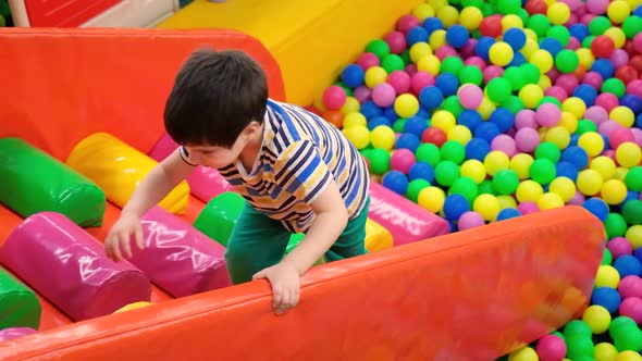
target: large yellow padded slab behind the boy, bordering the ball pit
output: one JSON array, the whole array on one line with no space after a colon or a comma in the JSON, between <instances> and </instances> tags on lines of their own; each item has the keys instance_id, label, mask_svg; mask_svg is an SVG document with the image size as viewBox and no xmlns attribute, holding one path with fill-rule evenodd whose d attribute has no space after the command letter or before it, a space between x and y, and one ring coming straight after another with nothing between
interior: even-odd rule
<instances>
[{"instance_id":1,"label":"large yellow padded slab behind the boy, bordering the ball pit","mask_svg":"<svg viewBox=\"0 0 642 361\"><path fill-rule=\"evenodd\" d=\"M195 0L159 28L232 28L259 39L279 62L287 100L312 103L366 45L423 0Z\"/></svg>"}]
</instances>

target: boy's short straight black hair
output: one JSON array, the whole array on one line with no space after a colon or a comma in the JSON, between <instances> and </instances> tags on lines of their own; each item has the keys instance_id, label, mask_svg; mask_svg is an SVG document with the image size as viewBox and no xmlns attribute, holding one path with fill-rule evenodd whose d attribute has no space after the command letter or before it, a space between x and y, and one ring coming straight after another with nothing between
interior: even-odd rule
<instances>
[{"instance_id":1,"label":"boy's short straight black hair","mask_svg":"<svg viewBox=\"0 0 642 361\"><path fill-rule=\"evenodd\" d=\"M268 82L261 66L237 50L198 50L176 75L164 110L180 145L231 148L251 122L262 124Z\"/></svg>"}]
</instances>

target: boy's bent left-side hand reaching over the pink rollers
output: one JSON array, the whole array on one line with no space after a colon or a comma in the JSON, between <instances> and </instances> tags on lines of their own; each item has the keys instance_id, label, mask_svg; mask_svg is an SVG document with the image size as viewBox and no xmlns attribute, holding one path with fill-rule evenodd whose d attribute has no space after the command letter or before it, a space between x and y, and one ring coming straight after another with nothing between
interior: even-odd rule
<instances>
[{"instance_id":1,"label":"boy's bent left-side hand reaching over the pink rollers","mask_svg":"<svg viewBox=\"0 0 642 361\"><path fill-rule=\"evenodd\" d=\"M122 261L122 249L127 258L132 258L132 236L135 237L138 249L143 249L145 245L143 242L140 219L131 214L121 214L121 217L114 223L104 239L104 251L107 257L116 262Z\"/></svg>"}]
</instances>

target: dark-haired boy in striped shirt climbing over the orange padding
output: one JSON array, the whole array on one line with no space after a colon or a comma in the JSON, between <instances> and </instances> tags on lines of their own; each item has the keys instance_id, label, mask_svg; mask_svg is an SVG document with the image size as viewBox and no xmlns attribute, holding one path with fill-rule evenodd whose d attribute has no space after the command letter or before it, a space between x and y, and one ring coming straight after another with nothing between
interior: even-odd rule
<instances>
[{"instance_id":1,"label":"dark-haired boy in striped shirt climbing over the orange padding","mask_svg":"<svg viewBox=\"0 0 642 361\"><path fill-rule=\"evenodd\" d=\"M180 70L164 110L181 147L139 184L106 239L113 260L143 248L140 216L196 165L217 169L247 200L227 242L234 284L268 278L275 312L297 304L314 262L366 253L368 170L333 125L268 99L261 67L240 51L201 50ZM306 233L283 257L292 233ZM122 249L122 251L121 251Z\"/></svg>"}]
</instances>

